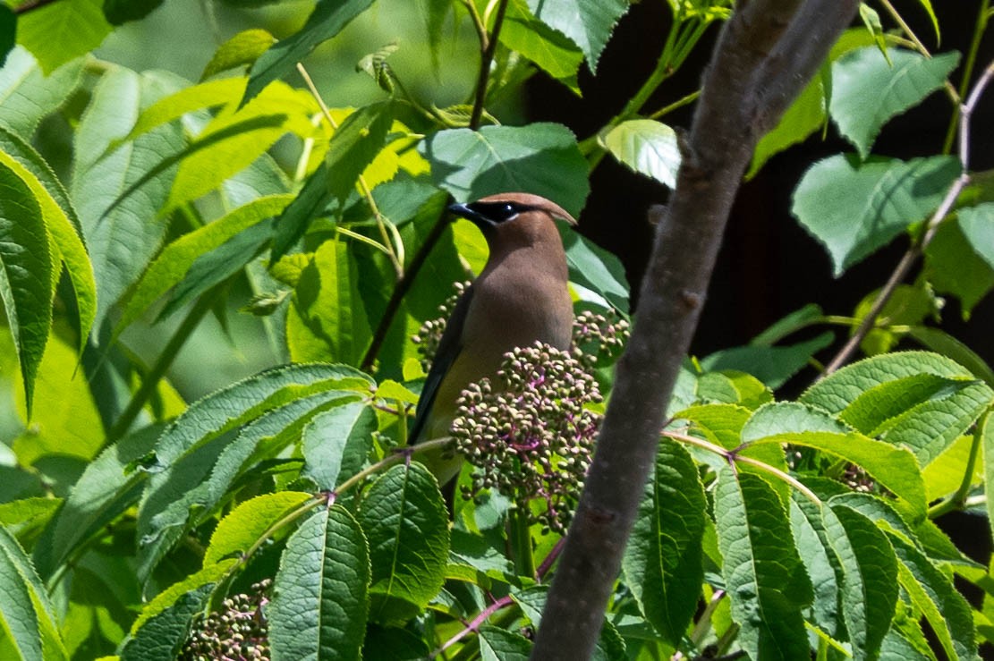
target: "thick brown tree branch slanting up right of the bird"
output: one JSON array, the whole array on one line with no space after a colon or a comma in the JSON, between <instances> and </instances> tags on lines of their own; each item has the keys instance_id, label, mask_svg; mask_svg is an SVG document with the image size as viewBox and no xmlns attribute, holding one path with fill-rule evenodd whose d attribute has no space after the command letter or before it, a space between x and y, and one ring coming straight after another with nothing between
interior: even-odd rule
<instances>
[{"instance_id":1,"label":"thick brown tree branch slanting up right of the bird","mask_svg":"<svg viewBox=\"0 0 994 661\"><path fill-rule=\"evenodd\" d=\"M534 659L587 659L594 649L745 167L762 132L811 79L857 6L857 0L751 0L739 3L722 30Z\"/></svg>"}]
</instances>

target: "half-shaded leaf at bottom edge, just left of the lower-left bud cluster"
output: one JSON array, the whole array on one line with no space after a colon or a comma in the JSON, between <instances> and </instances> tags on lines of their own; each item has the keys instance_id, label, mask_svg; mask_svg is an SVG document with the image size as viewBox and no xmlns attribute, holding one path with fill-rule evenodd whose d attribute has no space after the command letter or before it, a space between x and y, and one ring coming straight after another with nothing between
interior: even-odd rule
<instances>
[{"instance_id":1,"label":"half-shaded leaf at bottom edge, just left of the lower-left bud cluster","mask_svg":"<svg viewBox=\"0 0 994 661\"><path fill-rule=\"evenodd\" d=\"M237 561L205 567L159 593L141 609L121 647L121 661L172 661L186 641L190 623L203 611L218 582Z\"/></svg>"}]
</instances>

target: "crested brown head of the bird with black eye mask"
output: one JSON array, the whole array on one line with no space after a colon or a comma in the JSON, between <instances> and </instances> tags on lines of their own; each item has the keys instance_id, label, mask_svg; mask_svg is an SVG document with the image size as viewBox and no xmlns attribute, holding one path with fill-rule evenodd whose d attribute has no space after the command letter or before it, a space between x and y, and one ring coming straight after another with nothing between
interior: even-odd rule
<instances>
[{"instance_id":1,"label":"crested brown head of the bird with black eye mask","mask_svg":"<svg viewBox=\"0 0 994 661\"><path fill-rule=\"evenodd\" d=\"M555 202L531 193L499 193L480 198L469 204L456 204L449 211L472 221L489 241L494 236L522 235L555 230L555 219L572 226L577 221Z\"/></svg>"}]
</instances>

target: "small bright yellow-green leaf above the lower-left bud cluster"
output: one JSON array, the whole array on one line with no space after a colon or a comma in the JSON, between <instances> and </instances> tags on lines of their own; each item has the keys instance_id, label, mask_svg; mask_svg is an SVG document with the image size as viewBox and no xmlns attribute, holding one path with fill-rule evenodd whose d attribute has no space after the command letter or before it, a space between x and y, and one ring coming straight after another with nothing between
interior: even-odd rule
<instances>
[{"instance_id":1,"label":"small bright yellow-green leaf above the lower-left bud cluster","mask_svg":"<svg viewBox=\"0 0 994 661\"><path fill-rule=\"evenodd\" d=\"M204 566L245 554L270 526L310 498L310 494L300 491L279 491L239 503L211 534L211 543L204 553Z\"/></svg>"}]
</instances>

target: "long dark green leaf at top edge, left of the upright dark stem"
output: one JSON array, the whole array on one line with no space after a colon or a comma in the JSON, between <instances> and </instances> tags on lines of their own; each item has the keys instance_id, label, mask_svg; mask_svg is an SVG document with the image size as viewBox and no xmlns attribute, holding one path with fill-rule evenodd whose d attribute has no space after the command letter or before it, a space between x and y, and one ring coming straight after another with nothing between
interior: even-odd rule
<instances>
[{"instance_id":1,"label":"long dark green leaf at top edge, left of the upright dark stem","mask_svg":"<svg viewBox=\"0 0 994 661\"><path fill-rule=\"evenodd\" d=\"M267 84L290 73L318 44L341 32L371 4L373 0L318 0L298 32L274 44L252 65L242 104L248 103Z\"/></svg>"}]
</instances>

